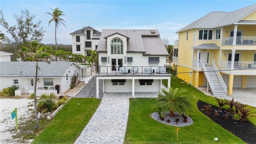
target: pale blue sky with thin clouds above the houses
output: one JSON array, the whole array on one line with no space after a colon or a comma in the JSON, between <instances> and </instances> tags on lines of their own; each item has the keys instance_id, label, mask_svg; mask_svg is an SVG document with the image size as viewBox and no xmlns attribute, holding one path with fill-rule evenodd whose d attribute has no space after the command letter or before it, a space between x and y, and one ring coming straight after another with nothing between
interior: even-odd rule
<instances>
[{"instance_id":1,"label":"pale blue sky with thin clouds above the houses","mask_svg":"<svg viewBox=\"0 0 256 144\"><path fill-rule=\"evenodd\" d=\"M66 21L66 28L61 25L57 30L58 44L71 44L71 32L83 26L102 31L102 29L157 29L161 39L167 38L169 44L178 39L178 30L208 14L209 12L232 12L255 4L254 0L1 0L0 8L10 26L15 25L13 14L20 14L21 9L30 10L41 20L44 44L55 44L54 23L46 12L58 7L66 14L61 17ZM6 30L0 27L2 33Z\"/></svg>"}]
</instances>

